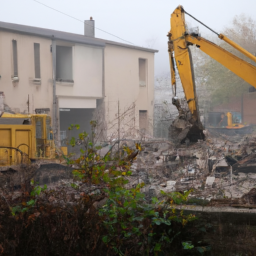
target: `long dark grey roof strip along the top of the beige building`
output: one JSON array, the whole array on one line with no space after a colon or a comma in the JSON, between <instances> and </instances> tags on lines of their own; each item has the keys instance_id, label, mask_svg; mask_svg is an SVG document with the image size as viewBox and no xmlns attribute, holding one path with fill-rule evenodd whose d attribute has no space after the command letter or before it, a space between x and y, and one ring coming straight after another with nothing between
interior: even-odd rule
<instances>
[{"instance_id":1,"label":"long dark grey roof strip along the top of the beige building","mask_svg":"<svg viewBox=\"0 0 256 256\"><path fill-rule=\"evenodd\" d=\"M130 44L123 44L123 43L105 40L101 38L84 36L82 34L74 34L74 33L68 33L64 31L53 30L53 29L32 27L32 26L2 22L2 21L0 21L0 30L7 30L7 31L17 32L22 34L36 35L36 36L41 36L41 37L46 37L51 39L54 38L56 40L64 40L69 42L89 44L89 45L95 45L100 47L105 47L106 44L111 44L111 45L116 45L120 47L126 47L126 48L147 51L152 53L158 52L158 50L154 50L154 49L149 49L149 48L130 45Z\"/></svg>"}]
</instances>

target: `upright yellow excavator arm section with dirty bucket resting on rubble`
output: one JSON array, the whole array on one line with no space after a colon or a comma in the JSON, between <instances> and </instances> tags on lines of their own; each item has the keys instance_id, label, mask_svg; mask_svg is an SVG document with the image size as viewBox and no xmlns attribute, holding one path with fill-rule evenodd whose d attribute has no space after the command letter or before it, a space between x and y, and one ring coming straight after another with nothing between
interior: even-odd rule
<instances>
[{"instance_id":1,"label":"upright yellow excavator arm section with dirty bucket resting on rubble","mask_svg":"<svg viewBox=\"0 0 256 256\"><path fill-rule=\"evenodd\" d=\"M204 139L203 126L198 114L192 58L186 41L186 34L185 13L180 6L171 16L171 31L168 34L171 83L174 92L172 103L179 111L179 118L174 120L169 129L169 137L176 144L184 143L187 140L196 142L198 139ZM190 115L184 111L176 98L175 66L179 72Z\"/></svg>"}]
</instances>

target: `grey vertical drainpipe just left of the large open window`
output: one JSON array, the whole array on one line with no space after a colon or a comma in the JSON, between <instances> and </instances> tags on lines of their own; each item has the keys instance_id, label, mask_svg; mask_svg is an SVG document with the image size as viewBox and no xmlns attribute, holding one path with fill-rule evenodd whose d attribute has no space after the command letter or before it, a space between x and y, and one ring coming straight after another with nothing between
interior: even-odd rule
<instances>
[{"instance_id":1,"label":"grey vertical drainpipe just left of the large open window","mask_svg":"<svg viewBox=\"0 0 256 256\"><path fill-rule=\"evenodd\" d=\"M56 97L56 41L52 38L52 129L54 135L54 142L58 145L58 127L57 127L57 97Z\"/></svg>"}]
</instances>

